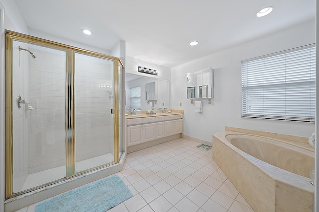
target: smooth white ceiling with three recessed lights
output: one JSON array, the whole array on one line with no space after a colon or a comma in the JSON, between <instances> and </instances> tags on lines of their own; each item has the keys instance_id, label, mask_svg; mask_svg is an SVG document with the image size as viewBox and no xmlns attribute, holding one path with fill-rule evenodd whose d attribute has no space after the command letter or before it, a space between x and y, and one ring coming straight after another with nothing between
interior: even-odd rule
<instances>
[{"instance_id":1,"label":"smooth white ceiling with three recessed lights","mask_svg":"<svg viewBox=\"0 0 319 212\"><path fill-rule=\"evenodd\" d=\"M315 20L316 0L15 0L29 29L174 67ZM273 6L265 17L256 13ZM91 36L81 29L89 29ZM307 33L307 32L306 32ZM197 46L189 46L196 40Z\"/></svg>"}]
</instances>

